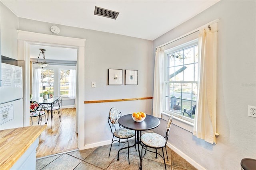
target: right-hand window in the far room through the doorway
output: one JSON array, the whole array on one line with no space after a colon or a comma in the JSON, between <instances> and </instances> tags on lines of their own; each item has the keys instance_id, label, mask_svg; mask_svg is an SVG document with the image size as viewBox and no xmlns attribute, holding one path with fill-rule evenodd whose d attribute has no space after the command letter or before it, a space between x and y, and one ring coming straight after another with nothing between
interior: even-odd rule
<instances>
[{"instance_id":1,"label":"right-hand window in the far room through the doorway","mask_svg":"<svg viewBox=\"0 0 256 170\"><path fill-rule=\"evenodd\" d=\"M68 96L70 86L70 70L60 69L60 96Z\"/></svg>"}]
</instances>

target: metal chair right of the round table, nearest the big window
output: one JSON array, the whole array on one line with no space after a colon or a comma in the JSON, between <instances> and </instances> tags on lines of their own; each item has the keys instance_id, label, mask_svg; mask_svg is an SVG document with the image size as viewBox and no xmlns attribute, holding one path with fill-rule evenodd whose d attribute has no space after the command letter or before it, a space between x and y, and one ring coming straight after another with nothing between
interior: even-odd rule
<instances>
[{"instance_id":1,"label":"metal chair right of the round table, nearest the big window","mask_svg":"<svg viewBox=\"0 0 256 170\"><path fill-rule=\"evenodd\" d=\"M151 132L144 133L140 137L140 141L142 143L141 155L142 155L142 150L145 149L145 153L144 153L144 156L145 156L146 151L148 150L147 147L155 149L156 150L155 152L152 151L152 150L148 150L148 151L156 153L156 158L157 158L157 155L160 155L164 159L165 169L166 169L166 163L165 163L165 158L164 158L164 148L165 148L166 156L167 156L167 160L168 160L168 154L167 154L167 150L166 150L166 143L168 141L170 127L171 127L171 124L172 124L172 117L173 116L170 115L170 117L168 118L165 137L163 137L162 135L159 135L158 133L151 133ZM163 156L157 152L157 149L162 149Z\"/></svg>"}]
</instances>

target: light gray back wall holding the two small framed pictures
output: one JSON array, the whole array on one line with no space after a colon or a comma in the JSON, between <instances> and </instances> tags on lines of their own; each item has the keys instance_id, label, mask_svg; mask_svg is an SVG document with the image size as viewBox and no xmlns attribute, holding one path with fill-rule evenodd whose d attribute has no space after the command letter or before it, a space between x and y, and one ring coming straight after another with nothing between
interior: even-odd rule
<instances>
[{"instance_id":1,"label":"light gray back wall holding the two small framed pictures","mask_svg":"<svg viewBox=\"0 0 256 170\"><path fill-rule=\"evenodd\" d=\"M54 24L19 18L19 29L52 34ZM84 101L153 96L152 41L112 33L58 25L60 36L86 39ZM47 57L46 57L47 59ZM108 85L108 68L123 69L123 85ZM138 70L138 85L124 85L125 69ZM96 88L92 88L92 81ZM112 139L107 117L111 107L122 114L152 114L152 100L84 104L85 148L109 144Z\"/></svg>"}]
</instances>

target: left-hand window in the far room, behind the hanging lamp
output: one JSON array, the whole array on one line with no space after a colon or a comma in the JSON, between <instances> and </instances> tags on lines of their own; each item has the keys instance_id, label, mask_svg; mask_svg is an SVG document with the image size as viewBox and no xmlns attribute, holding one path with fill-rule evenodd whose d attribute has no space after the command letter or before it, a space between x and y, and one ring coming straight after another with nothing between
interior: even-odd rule
<instances>
[{"instance_id":1,"label":"left-hand window in the far room, behind the hanging lamp","mask_svg":"<svg viewBox=\"0 0 256 170\"><path fill-rule=\"evenodd\" d=\"M46 94L54 94L54 69L40 69L41 70L41 78L39 85L39 93L40 97L44 93Z\"/></svg>"}]
</instances>

